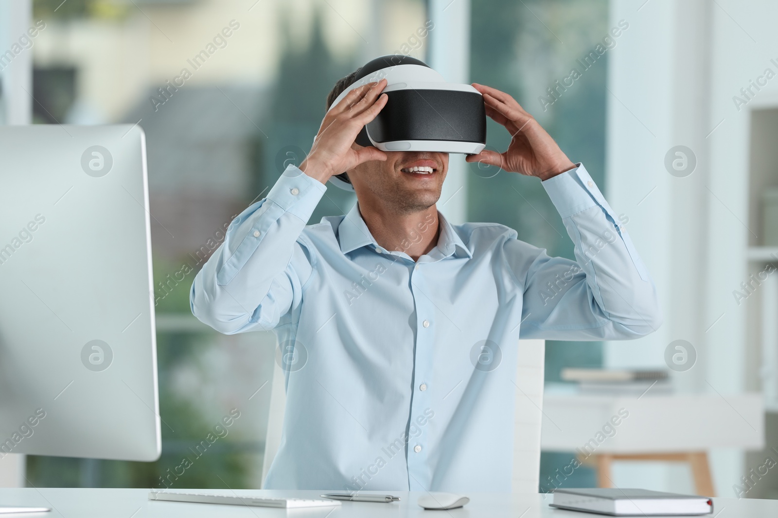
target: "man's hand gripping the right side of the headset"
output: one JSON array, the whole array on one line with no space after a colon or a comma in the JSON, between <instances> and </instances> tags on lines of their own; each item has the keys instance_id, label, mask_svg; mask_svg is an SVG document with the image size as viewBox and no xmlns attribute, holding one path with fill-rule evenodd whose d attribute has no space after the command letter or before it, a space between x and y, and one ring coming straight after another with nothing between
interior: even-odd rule
<instances>
[{"instance_id":1,"label":"man's hand gripping the right side of the headset","mask_svg":"<svg viewBox=\"0 0 778 518\"><path fill-rule=\"evenodd\" d=\"M478 155L466 155L465 162L484 162L507 172L537 176L541 180L575 168L576 165L559 149L551 135L513 97L491 86L471 85L481 92L486 115L506 127L511 138L507 151L497 153L484 149Z\"/></svg>"}]
</instances>

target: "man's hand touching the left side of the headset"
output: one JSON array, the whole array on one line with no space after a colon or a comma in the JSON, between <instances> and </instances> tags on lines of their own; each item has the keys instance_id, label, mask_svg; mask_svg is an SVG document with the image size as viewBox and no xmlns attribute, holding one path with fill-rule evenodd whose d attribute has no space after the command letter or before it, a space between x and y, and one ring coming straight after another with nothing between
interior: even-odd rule
<instances>
[{"instance_id":1,"label":"man's hand touching the left side of the headset","mask_svg":"<svg viewBox=\"0 0 778 518\"><path fill-rule=\"evenodd\" d=\"M327 183L331 176L354 169L363 162L386 160L384 151L354 142L362 127L373 120L387 103L387 95L381 93L386 85L387 80L383 78L359 86L329 110L321 121L310 153L300 164L300 170L321 183Z\"/></svg>"}]
</instances>

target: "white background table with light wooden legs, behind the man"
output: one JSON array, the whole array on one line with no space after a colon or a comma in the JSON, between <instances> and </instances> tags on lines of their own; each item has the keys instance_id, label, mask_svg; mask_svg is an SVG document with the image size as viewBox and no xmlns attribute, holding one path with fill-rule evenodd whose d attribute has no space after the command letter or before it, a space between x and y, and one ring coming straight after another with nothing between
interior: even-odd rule
<instances>
[{"instance_id":1,"label":"white background table with light wooden legs, behind the man","mask_svg":"<svg viewBox=\"0 0 778 518\"><path fill-rule=\"evenodd\" d=\"M628 416L610 426L619 409ZM760 393L652 395L649 390L638 398L546 391L543 412L541 450L577 449L580 461L594 464L601 488L612 486L612 461L682 461L689 463L697 494L715 495L708 450L765 445ZM603 429L606 424L610 429Z\"/></svg>"}]
</instances>

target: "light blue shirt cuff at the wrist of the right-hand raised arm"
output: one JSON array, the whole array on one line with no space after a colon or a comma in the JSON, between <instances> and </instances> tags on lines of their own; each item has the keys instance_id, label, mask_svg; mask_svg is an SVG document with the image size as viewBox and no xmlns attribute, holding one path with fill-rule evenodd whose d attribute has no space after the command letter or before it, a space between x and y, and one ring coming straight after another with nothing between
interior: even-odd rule
<instances>
[{"instance_id":1,"label":"light blue shirt cuff at the wrist of the right-hand raised arm","mask_svg":"<svg viewBox=\"0 0 778 518\"><path fill-rule=\"evenodd\" d=\"M541 184L562 219L598 204L605 207L605 197L580 162L574 169L544 180Z\"/></svg>"}]
</instances>

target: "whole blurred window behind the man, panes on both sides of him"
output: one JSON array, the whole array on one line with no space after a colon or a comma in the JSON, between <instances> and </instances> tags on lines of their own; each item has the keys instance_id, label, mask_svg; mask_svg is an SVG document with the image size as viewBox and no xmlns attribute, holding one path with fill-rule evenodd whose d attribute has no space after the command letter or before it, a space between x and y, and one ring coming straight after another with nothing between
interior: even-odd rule
<instances>
[{"instance_id":1,"label":"whole blurred window behind the man, panes on both sides of him","mask_svg":"<svg viewBox=\"0 0 778 518\"><path fill-rule=\"evenodd\" d=\"M33 19L45 21L31 49L34 122L138 123L146 134L163 454L151 464L30 456L27 477L37 486L257 488L275 336L200 324L191 281L226 224L289 161L302 162L338 78L380 54L426 59L428 42L414 36L426 2L56 3L33 4ZM605 0L471 0L471 80L513 95L601 187L608 54L565 81L607 20ZM504 150L506 130L489 121L488 131ZM469 168L470 221L506 224L549 255L573 257L537 179ZM330 186L310 222L354 201ZM547 381L563 366L600 363L598 343L548 342ZM240 418L204 447L231 408ZM191 466L180 467L184 457Z\"/></svg>"}]
</instances>

